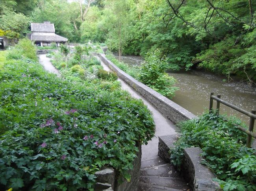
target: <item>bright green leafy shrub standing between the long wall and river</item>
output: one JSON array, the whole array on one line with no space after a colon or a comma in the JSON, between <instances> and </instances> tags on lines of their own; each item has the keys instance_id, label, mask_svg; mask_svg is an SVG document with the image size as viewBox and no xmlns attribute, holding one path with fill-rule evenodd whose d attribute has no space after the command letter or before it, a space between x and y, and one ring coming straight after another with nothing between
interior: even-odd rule
<instances>
[{"instance_id":1,"label":"bright green leafy shrub standing between the long wall and river","mask_svg":"<svg viewBox=\"0 0 256 191\"><path fill-rule=\"evenodd\" d=\"M176 80L165 72L167 68L167 59L161 56L160 50L150 51L139 68L138 79L163 96L173 97L178 88L172 86Z\"/></svg>"}]
</instances>

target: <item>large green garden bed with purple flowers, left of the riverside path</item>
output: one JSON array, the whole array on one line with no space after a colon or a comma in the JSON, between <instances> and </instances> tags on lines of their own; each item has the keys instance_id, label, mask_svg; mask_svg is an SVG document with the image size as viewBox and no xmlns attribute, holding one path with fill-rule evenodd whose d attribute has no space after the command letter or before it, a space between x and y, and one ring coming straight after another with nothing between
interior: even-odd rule
<instances>
[{"instance_id":1,"label":"large green garden bed with purple flowers, left of the riverside path","mask_svg":"<svg viewBox=\"0 0 256 191\"><path fill-rule=\"evenodd\" d=\"M154 135L151 113L115 74L99 75L95 58L80 62L80 50L48 55L62 78L43 69L28 39L0 52L1 190L91 190L104 165L129 180L134 145Z\"/></svg>"}]
</instances>

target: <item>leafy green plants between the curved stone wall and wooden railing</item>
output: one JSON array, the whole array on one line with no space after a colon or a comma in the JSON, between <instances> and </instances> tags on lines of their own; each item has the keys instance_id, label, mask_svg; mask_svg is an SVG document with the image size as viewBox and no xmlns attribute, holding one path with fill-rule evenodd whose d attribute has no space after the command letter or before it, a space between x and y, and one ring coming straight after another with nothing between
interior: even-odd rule
<instances>
[{"instance_id":1,"label":"leafy green plants between the curved stone wall and wooden railing","mask_svg":"<svg viewBox=\"0 0 256 191\"><path fill-rule=\"evenodd\" d=\"M244 143L247 137L236 119L215 113L179 124L182 135L174 143L171 160L181 168L183 149L202 148L203 163L217 176L224 191L254 191L256 189L256 152Z\"/></svg>"}]
</instances>

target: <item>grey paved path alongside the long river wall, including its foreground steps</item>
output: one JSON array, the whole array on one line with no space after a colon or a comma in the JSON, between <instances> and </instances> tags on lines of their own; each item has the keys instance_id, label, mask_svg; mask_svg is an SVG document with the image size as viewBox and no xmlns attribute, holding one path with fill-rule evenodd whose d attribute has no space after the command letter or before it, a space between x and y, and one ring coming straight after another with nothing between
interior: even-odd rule
<instances>
[{"instance_id":1,"label":"grey paved path alongside the long river wall, including its foreground steps","mask_svg":"<svg viewBox=\"0 0 256 191\"><path fill-rule=\"evenodd\" d=\"M98 58L100 60L100 58ZM101 60L100 60L101 61ZM109 67L101 61L104 70ZM144 104L152 112L156 124L155 136L148 145L142 145L141 176L139 191L181 191L189 187L174 166L166 163L158 156L158 136L176 134L174 124L163 117L143 96L139 95L132 87L120 78L122 89L128 91L133 97L142 99Z\"/></svg>"}]
</instances>

